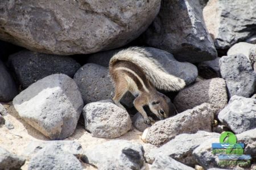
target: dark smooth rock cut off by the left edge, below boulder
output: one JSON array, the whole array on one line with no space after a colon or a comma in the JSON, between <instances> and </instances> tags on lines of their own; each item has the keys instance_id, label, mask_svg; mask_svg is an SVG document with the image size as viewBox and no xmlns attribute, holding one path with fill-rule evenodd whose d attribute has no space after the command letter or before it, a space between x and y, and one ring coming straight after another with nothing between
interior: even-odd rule
<instances>
[{"instance_id":1,"label":"dark smooth rock cut off by the left edge, below boulder","mask_svg":"<svg viewBox=\"0 0 256 170\"><path fill-rule=\"evenodd\" d=\"M13 78L2 61L0 61L0 80L0 101L13 100L18 91Z\"/></svg>"}]
</instances>

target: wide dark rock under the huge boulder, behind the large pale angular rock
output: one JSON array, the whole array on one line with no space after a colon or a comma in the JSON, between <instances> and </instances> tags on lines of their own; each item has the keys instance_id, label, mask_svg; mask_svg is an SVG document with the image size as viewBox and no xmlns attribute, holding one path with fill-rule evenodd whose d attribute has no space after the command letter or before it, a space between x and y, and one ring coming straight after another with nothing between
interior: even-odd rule
<instances>
[{"instance_id":1,"label":"wide dark rock under the huge boulder, behind the large pale angular rock","mask_svg":"<svg viewBox=\"0 0 256 170\"><path fill-rule=\"evenodd\" d=\"M28 50L12 54L9 63L23 88L51 74L62 73L72 78L80 68L80 64L70 57Z\"/></svg>"}]
</instances>

